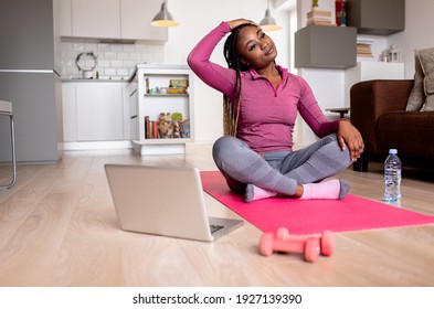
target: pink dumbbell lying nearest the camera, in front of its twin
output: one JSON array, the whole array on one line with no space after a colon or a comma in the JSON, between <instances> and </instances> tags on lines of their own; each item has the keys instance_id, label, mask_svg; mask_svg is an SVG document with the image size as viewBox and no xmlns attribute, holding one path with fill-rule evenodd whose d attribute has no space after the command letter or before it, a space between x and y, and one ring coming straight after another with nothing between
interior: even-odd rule
<instances>
[{"instance_id":1,"label":"pink dumbbell lying nearest the camera, in front of its twin","mask_svg":"<svg viewBox=\"0 0 434 309\"><path fill-rule=\"evenodd\" d=\"M261 254L269 256L273 252L303 253L307 262L317 262L320 244L318 237L309 237L306 241L279 239L273 233L264 233L260 244Z\"/></svg>"}]
</instances>

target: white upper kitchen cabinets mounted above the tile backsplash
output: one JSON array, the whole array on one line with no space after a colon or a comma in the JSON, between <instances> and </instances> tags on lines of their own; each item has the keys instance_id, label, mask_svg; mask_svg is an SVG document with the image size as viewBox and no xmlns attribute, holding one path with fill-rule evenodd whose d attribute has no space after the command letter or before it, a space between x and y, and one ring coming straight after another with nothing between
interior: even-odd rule
<instances>
[{"instance_id":1,"label":"white upper kitchen cabinets mounted above the tile backsplash","mask_svg":"<svg viewBox=\"0 0 434 309\"><path fill-rule=\"evenodd\" d=\"M154 0L61 0L61 35L167 41L167 28L150 25L160 7Z\"/></svg>"}]
</instances>

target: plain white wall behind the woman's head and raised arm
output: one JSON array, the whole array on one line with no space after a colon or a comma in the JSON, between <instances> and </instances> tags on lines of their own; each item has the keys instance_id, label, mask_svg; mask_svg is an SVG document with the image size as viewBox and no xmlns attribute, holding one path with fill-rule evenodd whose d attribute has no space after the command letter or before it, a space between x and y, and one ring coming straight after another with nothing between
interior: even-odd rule
<instances>
[{"instance_id":1,"label":"plain white wall behind the woman's head and raised arm","mask_svg":"<svg viewBox=\"0 0 434 309\"><path fill-rule=\"evenodd\" d=\"M169 40L165 45L165 62L186 63L194 45L221 21L245 18L260 22L264 18L266 7L266 0L169 0L169 11L181 24L169 29ZM288 12L272 8L272 15L284 29L269 32L268 35L277 45L277 62L288 66ZM212 61L226 66L223 42L224 39L215 49ZM195 140L198 143L213 142L223 132L222 95L195 78L194 104Z\"/></svg>"}]
</instances>

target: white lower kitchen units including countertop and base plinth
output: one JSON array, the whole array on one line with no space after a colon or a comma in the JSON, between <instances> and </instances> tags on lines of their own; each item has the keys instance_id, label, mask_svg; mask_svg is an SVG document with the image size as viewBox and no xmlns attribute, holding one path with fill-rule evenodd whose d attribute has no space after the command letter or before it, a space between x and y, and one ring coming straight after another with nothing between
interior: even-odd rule
<instances>
[{"instance_id":1,"label":"white lower kitchen units including countertop and base plinth","mask_svg":"<svg viewBox=\"0 0 434 309\"><path fill-rule=\"evenodd\" d=\"M65 150L130 148L126 79L64 78Z\"/></svg>"}]
</instances>

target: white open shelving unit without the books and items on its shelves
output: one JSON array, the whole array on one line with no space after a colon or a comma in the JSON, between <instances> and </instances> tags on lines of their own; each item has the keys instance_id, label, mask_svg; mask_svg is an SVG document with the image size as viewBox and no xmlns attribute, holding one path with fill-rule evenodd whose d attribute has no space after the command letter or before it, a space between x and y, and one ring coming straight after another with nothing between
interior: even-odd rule
<instances>
[{"instance_id":1,"label":"white open shelving unit without the books and items on its shelves","mask_svg":"<svg viewBox=\"0 0 434 309\"><path fill-rule=\"evenodd\" d=\"M187 65L148 65L137 66L137 108L133 109L131 124L136 127L134 149L144 154L184 153L186 143L194 139L193 121L193 81ZM171 79L187 79L188 93L169 94L157 89L168 88ZM160 113L182 113L183 119L190 120L189 138L147 138L145 117L157 121Z\"/></svg>"}]
</instances>

